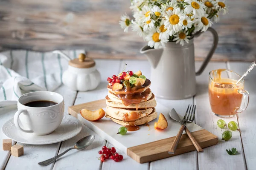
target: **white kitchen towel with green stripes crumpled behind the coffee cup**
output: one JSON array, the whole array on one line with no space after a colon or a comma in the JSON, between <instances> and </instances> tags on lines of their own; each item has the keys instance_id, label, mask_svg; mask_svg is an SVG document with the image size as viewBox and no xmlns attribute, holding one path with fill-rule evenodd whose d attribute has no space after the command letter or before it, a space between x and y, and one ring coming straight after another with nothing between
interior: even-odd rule
<instances>
[{"instance_id":1,"label":"white kitchen towel with green stripes crumpled behind the coffee cup","mask_svg":"<svg viewBox=\"0 0 256 170\"><path fill-rule=\"evenodd\" d=\"M26 50L0 53L0 109L16 105L32 91L54 91L62 84L67 61L58 54Z\"/></svg>"}]
</instances>

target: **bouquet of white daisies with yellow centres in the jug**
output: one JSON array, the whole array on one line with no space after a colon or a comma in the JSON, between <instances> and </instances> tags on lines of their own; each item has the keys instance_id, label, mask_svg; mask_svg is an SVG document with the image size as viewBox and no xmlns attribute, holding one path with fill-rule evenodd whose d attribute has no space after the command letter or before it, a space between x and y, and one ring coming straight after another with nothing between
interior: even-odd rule
<instances>
[{"instance_id":1,"label":"bouquet of white daisies with yellow centres in the jug","mask_svg":"<svg viewBox=\"0 0 256 170\"><path fill-rule=\"evenodd\" d=\"M198 31L206 31L218 22L227 6L219 0L131 0L134 20L122 15L119 24L125 32L131 26L151 48L163 48L166 42L182 46Z\"/></svg>"}]
</instances>

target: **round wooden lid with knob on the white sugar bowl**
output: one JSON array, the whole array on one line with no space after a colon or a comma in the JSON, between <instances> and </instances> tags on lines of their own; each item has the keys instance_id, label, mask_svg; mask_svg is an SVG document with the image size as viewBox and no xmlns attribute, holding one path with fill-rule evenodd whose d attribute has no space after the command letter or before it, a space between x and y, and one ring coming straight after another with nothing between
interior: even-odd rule
<instances>
[{"instance_id":1,"label":"round wooden lid with knob on the white sugar bowl","mask_svg":"<svg viewBox=\"0 0 256 170\"><path fill-rule=\"evenodd\" d=\"M91 68L95 65L95 61L81 53L78 58L70 60L68 64L76 68Z\"/></svg>"}]
</instances>

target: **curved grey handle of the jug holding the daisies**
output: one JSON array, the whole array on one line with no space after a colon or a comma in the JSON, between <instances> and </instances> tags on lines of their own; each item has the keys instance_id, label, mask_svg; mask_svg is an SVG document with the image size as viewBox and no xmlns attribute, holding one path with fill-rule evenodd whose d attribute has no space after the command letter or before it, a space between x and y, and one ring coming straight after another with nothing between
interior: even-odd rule
<instances>
[{"instance_id":1,"label":"curved grey handle of the jug holding the daisies","mask_svg":"<svg viewBox=\"0 0 256 170\"><path fill-rule=\"evenodd\" d=\"M212 48L209 51L209 53L207 54L206 59L204 60L203 64L201 65L201 67L199 68L199 70L195 73L196 76L199 76L200 74L202 74L202 72L204 71L204 69L206 68L208 62L211 60L212 55L215 51L215 49L217 48L218 45L218 33L215 31L215 29L213 28L208 28L207 31L210 31L212 33L213 36L213 43L212 43ZM201 35L202 32L195 34L195 37L199 37Z\"/></svg>"}]
</instances>

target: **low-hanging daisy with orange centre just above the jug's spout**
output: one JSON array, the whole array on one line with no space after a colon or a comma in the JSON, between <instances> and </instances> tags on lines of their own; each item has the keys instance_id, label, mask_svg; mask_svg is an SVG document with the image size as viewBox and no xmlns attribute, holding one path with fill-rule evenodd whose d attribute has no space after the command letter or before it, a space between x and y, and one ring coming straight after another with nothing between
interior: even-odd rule
<instances>
[{"instance_id":1,"label":"low-hanging daisy with orange centre just above the jug's spout","mask_svg":"<svg viewBox=\"0 0 256 170\"><path fill-rule=\"evenodd\" d=\"M159 35L159 32L157 32L157 30L153 28L145 38L148 41L148 46L150 46L151 48L154 47L155 49L165 47L164 43L166 43L168 40L160 40Z\"/></svg>"}]
</instances>

